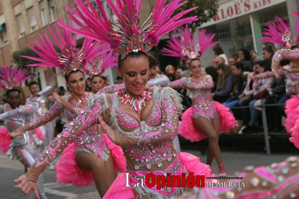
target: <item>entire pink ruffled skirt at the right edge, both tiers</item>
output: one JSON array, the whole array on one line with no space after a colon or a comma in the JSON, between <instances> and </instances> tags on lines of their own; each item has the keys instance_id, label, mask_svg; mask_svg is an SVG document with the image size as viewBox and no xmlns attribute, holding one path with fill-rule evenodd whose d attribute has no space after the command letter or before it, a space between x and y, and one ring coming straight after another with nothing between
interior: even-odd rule
<instances>
[{"instance_id":1,"label":"entire pink ruffled skirt at the right edge, both tiers","mask_svg":"<svg viewBox=\"0 0 299 199\"><path fill-rule=\"evenodd\" d=\"M286 130L292 137L289 140L299 149L299 97L292 96L286 101Z\"/></svg>"}]
</instances>

